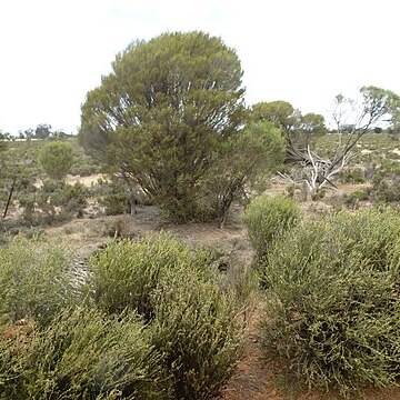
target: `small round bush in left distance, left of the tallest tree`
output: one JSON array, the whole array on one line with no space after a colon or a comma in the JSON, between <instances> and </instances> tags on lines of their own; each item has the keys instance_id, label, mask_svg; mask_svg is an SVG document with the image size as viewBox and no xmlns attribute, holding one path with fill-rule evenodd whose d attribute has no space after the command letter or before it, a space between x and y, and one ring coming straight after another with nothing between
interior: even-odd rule
<instances>
[{"instance_id":1,"label":"small round bush in left distance, left of the tallest tree","mask_svg":"<svg viewBox=\"0 0 400 400\"><path fill-rule=\"evenodd\" d=\"M40 149L39 162L49 178L62 179L73 164L72 148L63 141L50 141Z\"/></svg>"}]
</instances>

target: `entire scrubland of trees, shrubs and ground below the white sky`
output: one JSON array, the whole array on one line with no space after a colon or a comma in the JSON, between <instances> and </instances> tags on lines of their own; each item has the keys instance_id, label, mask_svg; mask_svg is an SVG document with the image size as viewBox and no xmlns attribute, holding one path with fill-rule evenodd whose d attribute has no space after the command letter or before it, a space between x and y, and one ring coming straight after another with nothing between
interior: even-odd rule
<instances>
[{"instance_id":1,"label":"entire scrubland of trees, shrubs and ground below the white sky","mask_svg":"<svg viewBox=\"0 0 400 400\"><path fill-rule=\"evenodd\" d=\"M162 34L117 56L78 139L1 141L0 399L267 399L251 358L273 399L399 383L398 96L362 88L358 124L338 96L329 130L248 108L241 74L220 39Z\"/></svg>"}]
</instances>

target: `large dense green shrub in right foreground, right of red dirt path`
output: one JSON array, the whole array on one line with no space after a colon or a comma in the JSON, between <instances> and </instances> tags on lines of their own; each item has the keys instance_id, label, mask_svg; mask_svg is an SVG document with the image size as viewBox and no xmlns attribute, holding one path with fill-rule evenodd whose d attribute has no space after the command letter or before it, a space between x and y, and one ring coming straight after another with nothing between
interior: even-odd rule
<instances>
[{"instance_id":1,"label":"large dense green shrub in right foreground, right of red dirt path","mask_svg":"<svg viewBox=\"0 0 400 400\"><path fill-rule=\"evenodd\" d=\"M384 387L400 372L400 216L372 209L303 223L276 242L263 346L307 383Z\"/></svg>"}]
</instances>

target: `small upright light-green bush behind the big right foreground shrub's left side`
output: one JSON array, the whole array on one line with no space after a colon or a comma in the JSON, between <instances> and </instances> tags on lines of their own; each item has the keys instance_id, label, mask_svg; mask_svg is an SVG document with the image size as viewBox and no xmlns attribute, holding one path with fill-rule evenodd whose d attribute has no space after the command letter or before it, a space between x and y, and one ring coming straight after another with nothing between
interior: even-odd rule
<instances>
[{"instance_id":1,"label":"small upright light-green bush behind the big right foreground shrub's left side","mask_svg":"<svg viewBox=\"0 0 400 400\"><path fill-rule=\"evenodd\" d=\"M294 227L300 219L297 202L286 197L260 196L244 211L250 242L259 258L266 256L273 240Z\"/></svg>"}]
</instances>

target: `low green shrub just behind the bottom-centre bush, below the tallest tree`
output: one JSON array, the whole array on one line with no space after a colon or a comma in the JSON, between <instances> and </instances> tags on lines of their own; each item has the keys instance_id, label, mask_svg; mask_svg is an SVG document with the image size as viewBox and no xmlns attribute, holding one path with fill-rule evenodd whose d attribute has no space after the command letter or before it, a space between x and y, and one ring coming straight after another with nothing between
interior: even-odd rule
<instances>
[{"instance_id":1,"label":"low green shrub just behind the bottom-centre bush, below the tallest tree","mask_svg":"<svg viewBox=\"0 0 400 400\"><path fill-rule=\"evenodd\" d=\"M204 267L200 266L202 261L203 251L191 252L168 233L138 242L114 241L91 258L87 290L94 304L108 314L128 308L149 321L154 309L152 294L161 276L170 270L177 274L192 272Z\"/></svg>"}]
</instances>

